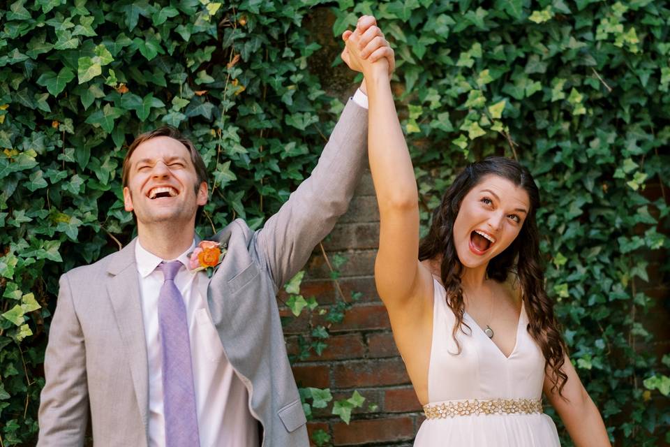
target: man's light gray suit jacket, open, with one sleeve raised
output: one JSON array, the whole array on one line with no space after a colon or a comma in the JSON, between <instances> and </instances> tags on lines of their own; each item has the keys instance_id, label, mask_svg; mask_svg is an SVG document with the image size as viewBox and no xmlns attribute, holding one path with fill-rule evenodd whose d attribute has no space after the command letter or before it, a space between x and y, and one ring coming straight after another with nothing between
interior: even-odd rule
<instances>
[{"instance_id":1,"label":"man's light gray suit jacket, open, with one sleeve raised","mask_svg":"<svg viewBox=\"0 0 670 447\"><path fill-rule=\"evenodd\" d=\"M237 219L216 235L228 253L204 293L262 425L263 446L308 446L276 292L347 210L366 143L367 111L349 101L318 166L281 210L261 230ZM96 447L147 446L148 361L135 241L61 277L45 378L38 446L82 446L89 408Z\"/></svg>"}]
</instances>

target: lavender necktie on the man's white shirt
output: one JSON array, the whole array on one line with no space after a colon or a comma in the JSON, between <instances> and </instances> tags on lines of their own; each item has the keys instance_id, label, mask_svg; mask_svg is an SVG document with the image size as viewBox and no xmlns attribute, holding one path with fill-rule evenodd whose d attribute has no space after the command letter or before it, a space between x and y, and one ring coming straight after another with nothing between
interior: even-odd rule
<instances>
[{"instance_id":1,"label":"lavender necktie on the man's white shirt","mask_svg":"<svg viewBox=\"0 0 670 447\"><path fill-rule=\"evenodd\" d=\"M163 262L158 265L165 276L161 293L158 295L158 327L163 360L165 446L199 447L186 305L174 284L174 277L182 265L179 261Z\"/></svg>"}]
</instances>

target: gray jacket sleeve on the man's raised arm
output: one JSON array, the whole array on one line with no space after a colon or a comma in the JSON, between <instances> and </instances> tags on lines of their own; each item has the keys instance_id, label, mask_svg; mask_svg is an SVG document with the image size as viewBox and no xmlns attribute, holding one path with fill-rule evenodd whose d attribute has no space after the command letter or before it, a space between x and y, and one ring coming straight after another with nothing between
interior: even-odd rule
<instances>
[{"instance_id":1,"label":"gray jacket sleeve on the man's raised arm","mask_svg":"<svg viewBox=\"0 0 670 447\"><path fill-rule=\"evenodd\" d=\"M367 154L368 111L348 101L310 177L255 235L274 283L281 288L349 206Z\"/></svg>"}]
</instances>

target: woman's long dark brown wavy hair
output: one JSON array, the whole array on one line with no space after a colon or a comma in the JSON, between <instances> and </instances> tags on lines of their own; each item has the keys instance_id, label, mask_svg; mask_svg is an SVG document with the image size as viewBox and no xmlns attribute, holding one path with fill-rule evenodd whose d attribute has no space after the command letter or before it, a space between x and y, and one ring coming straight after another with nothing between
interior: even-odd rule
<instances>
[{"instance_id":1,"label":"woman's long dark brown wavy hair","mask_svg":"<svg viewBox=\"0 0 670 447\"><path fill-rule=\"evenodd\" d=\"M461 353L461 344L456 339L456 332L462 330L461 325L466 325L463 323L465 304L461 286L463 264L459 260L454 244L454 221L459 214L463 197L486 175L498 175L508 179L523 188L530 198L530 210L519 235L505 251L491 259L486 274L499 282L506 281L509 274L516 275L521 284L522 299L528 314L528 333L542 349L552 373L551 390L558 390L558 394L562 395L567 381L567 374L561 369L565 362L566 348L553 314L553 302L544 291L544 270L535 220L535 212L539 207L539 190L527 168L512 159L498 156L472 163L465 168L449 186L442 197L442 203L433 212L430 231L419 244L419 260L442 257L440 277L447 290L447 305L456 316L452 335L458 346L458 353Z\"/></svg>"}]
</instances>

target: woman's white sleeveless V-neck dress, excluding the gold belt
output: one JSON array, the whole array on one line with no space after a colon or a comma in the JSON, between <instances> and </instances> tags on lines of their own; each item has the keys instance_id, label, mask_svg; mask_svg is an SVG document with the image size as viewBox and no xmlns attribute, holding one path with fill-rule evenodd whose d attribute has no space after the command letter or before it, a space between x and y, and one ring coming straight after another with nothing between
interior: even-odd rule
<instances>
[{"instance_id":1,"label":"woman's white sleeveless V-neck dress, excluding the gold belt","mask_svg":"<svg viewBox=\"0 0 670 447\"><path fill-rule=\"evenodd\" d=\"M428 372L430 406L477 400L539 400L545 360L530 337L528 316L521 306L516 345L509 355L498 349L467 313L465 333L452 337L456 317L447 306L446 291L434 281L433 346ZM444 408L444 406L442 406ZM422 423L415 447L560 447L553 420L544 413L480 413L429 418Z\"/></svg>"}]
</instances>

